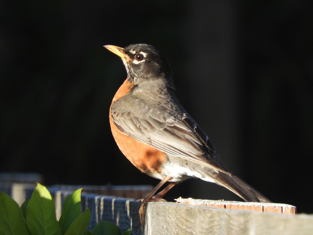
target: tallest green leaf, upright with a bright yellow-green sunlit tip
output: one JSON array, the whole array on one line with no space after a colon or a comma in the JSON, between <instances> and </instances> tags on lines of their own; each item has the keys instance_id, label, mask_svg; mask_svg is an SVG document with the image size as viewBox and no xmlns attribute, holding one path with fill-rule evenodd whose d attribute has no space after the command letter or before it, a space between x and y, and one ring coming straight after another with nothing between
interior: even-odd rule
<instances>
[{"instance_id":1,"label":"tallest green leaf, upright with a bright yellow-green sunlit tip","mask_svg":"<svg viewBox=\"0 0 313 235\"><path fill-rule=\"evenodd\" d=\"M55 217L55 205L45 186L37 183L26 210L29 231L35 235L61 235L61 227Z\"/></svg>"}]
</instances>

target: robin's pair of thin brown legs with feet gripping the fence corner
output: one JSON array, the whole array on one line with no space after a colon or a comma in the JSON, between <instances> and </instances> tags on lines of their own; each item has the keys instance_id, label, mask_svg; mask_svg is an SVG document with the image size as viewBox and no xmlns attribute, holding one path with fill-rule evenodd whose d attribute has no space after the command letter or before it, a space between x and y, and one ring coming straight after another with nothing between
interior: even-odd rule
<instances>
[{"instance_id":1,"label":"robin's pair of thin brown legs with feet gripping the fence corner","mask_svg":"<svg viewBox=\"0 0 313 235\"><path fill-rule=\"evenodd\" d=\"M154 189L148 193L145 198L141 201L141 205L140 205L140 208L139 208L139 221L140 221L140 224L142 225L143 224L143 217L145 216L145 205L146 205L146 202L149 202L149 201L154 201L153 200L153 195L156 193L156 191L158 191L162 185L164 185L168 180L172 179L171 176L165 176L163 180L161 180L155 187ZM171 183L172 184L172 183ZM164 194L169 191L174 185L172 185L171 187L169 187L171 184L169 184L165 189L163 189L160 193L162 193L163 191L165 191L162 195L159 195L157 194L156 197L159 201L161 201L162 199L162 196L164 196ZM159 195L159 196L158 196Z\"/></svg>"}]
</instances>

